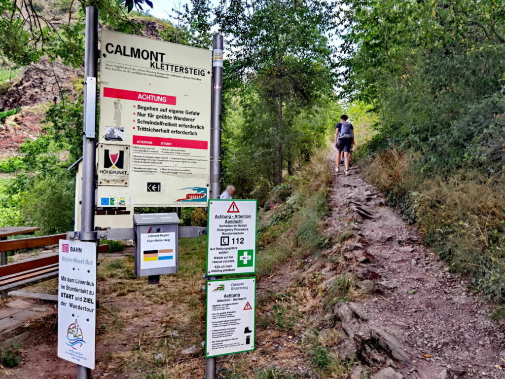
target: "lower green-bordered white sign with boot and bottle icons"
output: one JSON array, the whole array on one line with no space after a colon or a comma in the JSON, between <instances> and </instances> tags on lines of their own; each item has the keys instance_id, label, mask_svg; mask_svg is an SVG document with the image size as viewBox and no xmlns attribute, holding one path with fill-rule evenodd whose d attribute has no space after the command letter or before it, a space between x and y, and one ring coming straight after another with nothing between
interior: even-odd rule
<instances>
[{"instance_id":1,"label":"lower green-bordered white sign with boot and bottle icons","mask_svg":"<svg viewBox=\"0 0 505 379\"><path fill-rule=\"evenodd\" d=\"M255 350L256 278L207 281L206 358Z\"/></svg>"}]
</instances>

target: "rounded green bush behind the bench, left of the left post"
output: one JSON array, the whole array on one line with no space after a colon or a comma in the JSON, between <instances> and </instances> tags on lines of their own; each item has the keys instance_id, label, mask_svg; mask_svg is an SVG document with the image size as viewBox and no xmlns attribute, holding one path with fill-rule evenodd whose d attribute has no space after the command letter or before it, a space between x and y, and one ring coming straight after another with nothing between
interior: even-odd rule
<instances>
[{"instance_id":1,"label":"rounded green bush behind the bench, left of the left post","mask_svg":"<svg viewBox=\"0 0 505 379\"><path fill-rule=\"evenodd\" d=\"M24 223L39 226L43 234L73 230L74 186L75 179L65 172L32 179L20 201Z\"/></svg>"}]
</instances>

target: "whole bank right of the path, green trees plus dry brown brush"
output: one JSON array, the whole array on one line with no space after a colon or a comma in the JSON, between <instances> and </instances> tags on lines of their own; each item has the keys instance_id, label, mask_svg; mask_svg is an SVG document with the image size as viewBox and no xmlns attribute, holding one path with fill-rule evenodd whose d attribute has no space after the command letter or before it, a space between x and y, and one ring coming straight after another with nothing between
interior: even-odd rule
<instances>
[{"instance_id":1,"label":"whole bank right of the path, green trees plus dry brown brush","mask_svg":"<svg viewBox=\"0 0 505 379\"><path fill-rule=\"evenodd\" d=\"M451 270L501 301L505 13L495 1L340 3L342 92L379 117L354 157Z\"/></svg>"}]
</instances>

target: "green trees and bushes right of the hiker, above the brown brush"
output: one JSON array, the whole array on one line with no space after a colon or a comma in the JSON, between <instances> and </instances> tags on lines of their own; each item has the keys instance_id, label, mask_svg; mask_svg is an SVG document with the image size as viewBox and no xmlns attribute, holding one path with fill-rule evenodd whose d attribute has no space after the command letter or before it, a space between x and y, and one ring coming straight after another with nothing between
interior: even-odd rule
<instances>
[{"instance_id":1,"label":"green trees and bushes right of the hiker, above the brown brush","mask_svg":"<svg viewBox=\"0 0 505 379\"><path fill-rule=\"evenodd\" d=\"M501 170L505 13L473 0L342 3L344 92L374 105L374 143L420 151L425 170Z\"/></svg>"}]
</instances>

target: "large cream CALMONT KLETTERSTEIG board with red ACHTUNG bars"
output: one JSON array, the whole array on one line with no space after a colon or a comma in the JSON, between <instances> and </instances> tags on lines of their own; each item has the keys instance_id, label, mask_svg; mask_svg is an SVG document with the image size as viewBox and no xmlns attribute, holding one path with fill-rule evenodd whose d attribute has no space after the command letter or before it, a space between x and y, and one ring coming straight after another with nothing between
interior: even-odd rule
<instances>
[{"instance_id":1,"label":"large cream CALMONT KLETTERSTEIG board with red ACHTUNG bars","mask_svg":"<svg viewBox=\"0 0 505 379\"><path fill-rule=\"evenodd\" d=\"M102 30L99 207L205 207L212 52Z\"/></svg>"}]
</instances>

